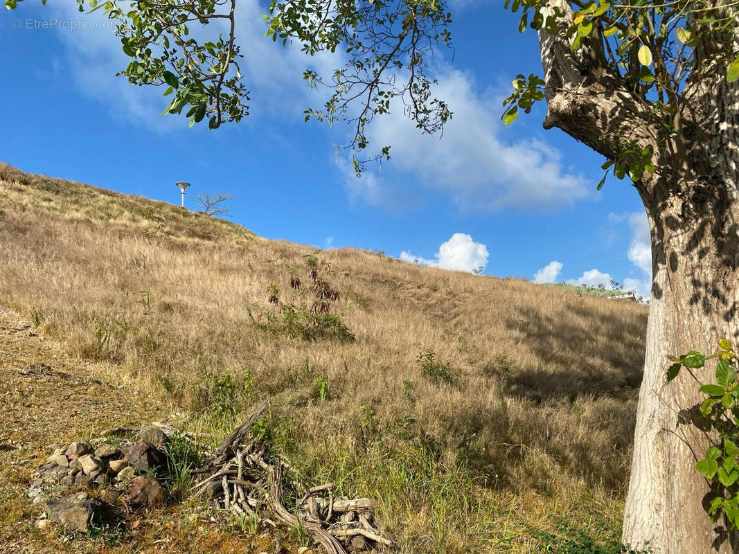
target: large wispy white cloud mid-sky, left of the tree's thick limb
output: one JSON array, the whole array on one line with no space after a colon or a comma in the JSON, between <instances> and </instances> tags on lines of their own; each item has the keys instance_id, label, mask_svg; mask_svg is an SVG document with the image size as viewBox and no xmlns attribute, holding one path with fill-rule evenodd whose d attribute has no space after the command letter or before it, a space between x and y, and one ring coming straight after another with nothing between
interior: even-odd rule
<instances>
[{"instance_id":1,"label":"large wispy white cloud mid-sky, left of the tree's thick limb","mask_svg":"<svg viewBox=\"0 0 739 554\"><path fill-rule=\"evenodd\" d=\"M565 167L556 148L503 134L499 98L479 92L464 72L444 67L438 73L434 95L454 112L443 136L420 134L402 109L376 117L367 132L369 148L390 145L392 161L382 174L359 179L367 184L350 185L355 194L381 202L402 188L399 181L406 177L398 176L399 170L415 174L424 186L446 191L460 208L470 210L553 211L592 195L588 182Z\"/></svg>"}]
</instances>

